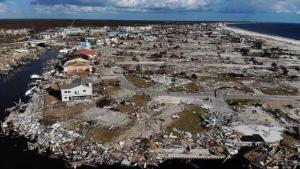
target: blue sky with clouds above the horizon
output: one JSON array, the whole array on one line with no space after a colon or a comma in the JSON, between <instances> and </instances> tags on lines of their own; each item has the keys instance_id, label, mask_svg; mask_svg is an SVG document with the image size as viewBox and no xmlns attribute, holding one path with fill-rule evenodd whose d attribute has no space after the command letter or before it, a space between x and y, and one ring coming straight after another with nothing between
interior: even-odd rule
<instances>
[{"instance_id":1,"label":"blue sky with clouds above the horizon","mask_svg":"<svg viewBox=\"0 0 300 169\"><path fill-rule=\"evenodd\" d=\"M300 0L0 0L0 19L300 23Z\"/></svg>"}]
</instances>

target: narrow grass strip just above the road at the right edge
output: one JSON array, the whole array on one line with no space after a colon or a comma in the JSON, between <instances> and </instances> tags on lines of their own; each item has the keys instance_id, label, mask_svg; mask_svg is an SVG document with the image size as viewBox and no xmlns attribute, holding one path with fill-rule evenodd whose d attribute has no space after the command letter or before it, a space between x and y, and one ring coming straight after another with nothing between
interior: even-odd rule
<instances>
[{"instance_id":1,"label":"narrow grass strip just above the road at the right edge","mask_svg":"<svg viewBox=\"0 0 300 169\"><path fill-rule=\"evenodd\" d=\"M262 88L261 92L267 95L294 96L297 95L298 90L288 86L280 86L276 88Z\"/></svg>"}]
</instances>

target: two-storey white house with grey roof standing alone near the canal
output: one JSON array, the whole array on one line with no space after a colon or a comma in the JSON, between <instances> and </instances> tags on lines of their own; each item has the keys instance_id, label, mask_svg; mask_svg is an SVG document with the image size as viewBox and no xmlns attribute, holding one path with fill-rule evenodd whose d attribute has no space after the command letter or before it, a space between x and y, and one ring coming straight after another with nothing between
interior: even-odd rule
<instances>
[{"instance_id":1,"label":"two-storey white house with grey roof standing alone near the canal","mask_svg":"<svg viewBox=\"0 0 300 169\"><path fill-rule=\"evenodd\" d=\"M92 81L86 77L74 80L71 84L60 87L63 102L75 100L87 100L93 96Z\"/></svg>"}]
</instances>

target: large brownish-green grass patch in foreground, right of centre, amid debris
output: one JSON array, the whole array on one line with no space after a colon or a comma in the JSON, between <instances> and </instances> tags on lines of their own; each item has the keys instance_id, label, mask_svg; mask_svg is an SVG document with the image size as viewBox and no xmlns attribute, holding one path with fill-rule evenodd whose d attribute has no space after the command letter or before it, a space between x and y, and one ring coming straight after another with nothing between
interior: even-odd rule
<instances>
[{"instance_id":1,"label":"large brownish-green grass patch in foreground, right of centre, amid debris","mask_svg":"<svg viewBox=\"0 0 300 169\"><path fill-rule=\"evenodd\" d=\"M195 135L204 130L201 126L201 116L205 116L207 114L208 112L206 109L194 105L188 105L182 112L179 113L180 118L175 119L167 127L167 131L172 131L173 128L177 128L186 132L191 132Z\"/></svg>"}]
</instances>

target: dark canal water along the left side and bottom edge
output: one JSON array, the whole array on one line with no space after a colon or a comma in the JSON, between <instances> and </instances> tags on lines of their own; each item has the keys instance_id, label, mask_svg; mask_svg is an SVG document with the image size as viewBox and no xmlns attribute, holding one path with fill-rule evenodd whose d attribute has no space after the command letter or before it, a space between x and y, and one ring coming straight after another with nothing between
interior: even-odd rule
<instances>
[{"instance_id":1,"label":"dark canal water along the left side and bottom edge","mask_svg":"<svg viewBox=\"0 0 300 169\"><path fill-rule=\"evenodd\" d=\"M31 74L41 74L47 61L57 55L56 50L48 50L38 60L33 61L20 68L19 71L2 79L0 82L0 119L3 120L8 114L6 108L15 105L21 99L27 101L24 93L28 89L29 77ZM66 168L63 159L50 159L47 155L40 155L35 151L27 150L27 140L19 136L0 135L0 169L64 169ZM92 167L82 167L89 168ZM120 166L100 166L98 168L120 169ZM167 161L157 169L242 169L241 161L233 161L226 165L222 161ZM128 169L128 168L127 168Z\"/></svg>"}]
</instances>

